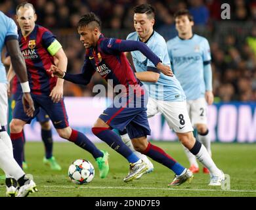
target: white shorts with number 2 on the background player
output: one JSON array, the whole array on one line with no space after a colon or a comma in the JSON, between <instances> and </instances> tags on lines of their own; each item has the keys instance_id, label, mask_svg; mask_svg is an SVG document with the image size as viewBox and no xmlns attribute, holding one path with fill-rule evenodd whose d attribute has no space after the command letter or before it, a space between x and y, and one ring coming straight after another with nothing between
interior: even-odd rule
<instances>
[{"instance_id":1,"label":"white shorts with number 2 on the background player","mask_svg":"<svg viewBox=\"0 0 256 210\"><path fill-rule=\"evenodd\" d=\"M186 108L192 121L192 125L207 124L207 103L205 98L198 98L196 100L187 100Z\"/></svg>"}]
</instances>

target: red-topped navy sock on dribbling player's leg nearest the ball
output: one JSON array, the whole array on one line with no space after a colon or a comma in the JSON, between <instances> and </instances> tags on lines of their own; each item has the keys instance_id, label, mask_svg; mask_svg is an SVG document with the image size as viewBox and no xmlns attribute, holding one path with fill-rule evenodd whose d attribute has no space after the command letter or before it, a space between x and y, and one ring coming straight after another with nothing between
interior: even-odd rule
<instances>
[{"instance_id":1,"label":"red-topped navy sock on dribbling player's leg nearest the ball","mask_svg":"<svg viewBox=\"0 0 256 210\"><path fill-rule=\"evenodd\" d=\"M139 158L133 153L133 151L131 151L128 146L126 146L125 143L123 143L119 135L117 135L114 131L101 127L93 127L92 130L96 137L106 142L108 146L126 158L129 163L135 163L139 161Z\"/></svg>"}]
</instances>

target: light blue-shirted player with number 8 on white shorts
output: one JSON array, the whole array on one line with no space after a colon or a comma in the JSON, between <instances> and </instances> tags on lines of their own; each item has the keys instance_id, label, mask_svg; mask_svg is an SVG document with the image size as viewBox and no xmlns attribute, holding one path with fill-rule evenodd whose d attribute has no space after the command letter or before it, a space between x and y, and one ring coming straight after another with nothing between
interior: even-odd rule
<instances>
[{"instance_id":1,"label":"light blue-shirted player with number 8 on white shorts","mask_svg":"<svg viewBox=\"0 0 256 210\"><path fill-rule=\"evenodd\" d=\"M136 31L130 33L127 40L146 43L163 60L163 64L171 66L165 40L153 29L154 8L150 5L138 5L134 8L134 12L133 20ZM220 186L224 181L223 171L217 168L205 146L194 138L193 128L186 110L186 96L175 75L167 77L161 74L154 68L152 62L139 51L131 52L131 55L137 71L136 77L148 87L150 95L147 106L148 117L155 116L158 112L163 114L170 129L175 131L181 143L211 172L209 185ZM176 173L175 177L177 179L173 180L170 185L177 185L182 174Z\"/></svg>"}]
</instances>

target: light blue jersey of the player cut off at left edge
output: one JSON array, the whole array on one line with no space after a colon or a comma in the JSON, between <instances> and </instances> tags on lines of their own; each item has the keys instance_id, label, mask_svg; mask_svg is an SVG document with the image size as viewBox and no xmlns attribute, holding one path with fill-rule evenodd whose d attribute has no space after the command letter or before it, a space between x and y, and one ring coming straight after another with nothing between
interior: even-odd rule
<instances>
[{"instance_id":1,"label":"light blue jersey of the player cut off at left edge","mask_svg":"<svg viewBox=\"0 0 256 210\"><path fill-rule=\"evenodd\" d=\"M0 11L0 54L2 54L5 40L18 39L17 26L11 18L7 17L3 12ZM5 66L0 59L0 83L7 83Z\"/></svg>"}]
</instances>

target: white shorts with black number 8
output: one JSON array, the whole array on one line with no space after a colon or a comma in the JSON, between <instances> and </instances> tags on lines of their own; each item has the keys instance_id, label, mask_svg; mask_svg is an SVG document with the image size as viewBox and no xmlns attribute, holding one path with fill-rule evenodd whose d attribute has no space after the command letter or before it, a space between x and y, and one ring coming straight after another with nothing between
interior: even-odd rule
<instances>
[{"instance_id":1,"label":"white shorts with black number 8","mask_svg":"<svg viewBox=\"0 0 256 210\"><path fill-rule=\"evenodd\" d=\"M188 110L186 110L186 102L163 101L149 97L147 108L148 117L153 117L158 112L163 114L169 128L173 129L175 133L194 131L188 116Z\"/></svg>"}]
</instances>

